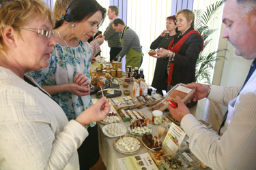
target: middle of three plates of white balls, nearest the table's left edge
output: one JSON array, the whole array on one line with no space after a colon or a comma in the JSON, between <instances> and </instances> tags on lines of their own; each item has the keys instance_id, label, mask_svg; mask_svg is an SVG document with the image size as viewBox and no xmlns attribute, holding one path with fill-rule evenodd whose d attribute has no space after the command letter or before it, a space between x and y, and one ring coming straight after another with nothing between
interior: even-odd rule
<instances>
[{"instance_id":1,"label":"middle of three plates of white balls, nearest the table's left edge","mask_svg":"<svg viewBox=\"0 0 256 170\"><path fill-rule=\"evenodd\" d=\"M102 128L102 132L107 137L120 137L126 134L127 129L124 124L112 123L106 124L106 126Z\"/></svg>"}]
</instances>

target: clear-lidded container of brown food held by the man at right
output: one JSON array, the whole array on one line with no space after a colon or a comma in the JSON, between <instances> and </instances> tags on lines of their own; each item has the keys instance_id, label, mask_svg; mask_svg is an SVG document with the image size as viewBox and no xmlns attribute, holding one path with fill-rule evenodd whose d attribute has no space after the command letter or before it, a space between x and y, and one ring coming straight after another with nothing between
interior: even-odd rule
<instances>
[{"instance_id":1,"label":"clear-lidded container of brown food held by the man at right","mask_svg":"<svg viewBox=\"0 0 256 170\"><path fill-rule=\"evenodd\" d=\"M175 97L179 96L180 99L182 99L182 102L186 105L186 103L192 99L194 92L195 88L190 88L186 84L180 83L171 88L165 95L165 98L177 104Z\"/></svg>"}]
</instances>

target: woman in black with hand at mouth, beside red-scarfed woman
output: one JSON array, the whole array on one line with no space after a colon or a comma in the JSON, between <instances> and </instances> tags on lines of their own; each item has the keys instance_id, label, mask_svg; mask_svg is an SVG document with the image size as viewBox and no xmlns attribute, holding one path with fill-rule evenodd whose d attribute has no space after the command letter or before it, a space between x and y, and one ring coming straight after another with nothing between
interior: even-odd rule
<instances>
[{"instance_id":1,"label":"woman in black with hand at mouth, beside red-scarfed woman","mask_svg":"<svg viewBox=\"0 0 256 170\"><path fill-rule=\"evenodd\" d=\"M175 16L168 16L166 22L166 30L162 31L162 33L159 35L159 37L152 42L150 49L156 50L156 48L164 48L168 49L169 44L173 40L174 35L177 33L177 25ZM169 58L163 57L163 58L157 58L156 61L156 68L154 73L154 78L152 81L152 86L156 88L156 92L162 94L162 90L167 91L167 65L168 65Z\"/></svg>"}]
</instances>

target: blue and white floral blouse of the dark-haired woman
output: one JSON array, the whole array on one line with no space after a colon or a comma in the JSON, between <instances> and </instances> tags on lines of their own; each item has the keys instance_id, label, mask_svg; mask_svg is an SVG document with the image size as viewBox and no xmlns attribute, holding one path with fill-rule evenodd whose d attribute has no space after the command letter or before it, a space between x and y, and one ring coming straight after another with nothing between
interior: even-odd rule
<instances>
[{"instance_id":1,"label":"blue and white floral blouse of the dark-haired woman","mask_svg":"<svg viewBox=\"0 0 256 170\"><path fill-rule=\"evenodd\" d=\"M89 43L80 41L79 46L76 48L62 46L57 43L53 47L48 67L29 72L27 75L33 78L40 86L71 84L77 72L85 73L91 80L89 75L90 64L91 46ZM59 92L52 95L52 97L59 103L68 120L76 119L81 112L92 104L89 95L78 97L70 92ZM95 125L96 122L90 124L91 127Z\"/></svg>"}]
</instances>

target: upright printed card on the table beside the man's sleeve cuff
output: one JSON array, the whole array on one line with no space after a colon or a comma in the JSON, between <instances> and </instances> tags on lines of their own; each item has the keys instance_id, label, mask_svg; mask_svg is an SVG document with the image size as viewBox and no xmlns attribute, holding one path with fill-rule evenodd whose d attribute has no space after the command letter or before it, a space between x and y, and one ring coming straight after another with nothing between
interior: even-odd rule
<instances>
[{"instance_id":1,"label":"upright printed card on the table beside the man's sleeve cuff","mask_svg":"<svg viewBox=\"0 0 256 170\"><path fill-rule=\"evenodd\" d=\"M177 124L172 122L163 145L167 146L165 148L171 150L171 152L177 152L185 136L186 133Z\"/></svg>"}]
</instances>

